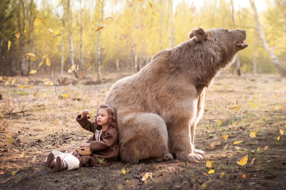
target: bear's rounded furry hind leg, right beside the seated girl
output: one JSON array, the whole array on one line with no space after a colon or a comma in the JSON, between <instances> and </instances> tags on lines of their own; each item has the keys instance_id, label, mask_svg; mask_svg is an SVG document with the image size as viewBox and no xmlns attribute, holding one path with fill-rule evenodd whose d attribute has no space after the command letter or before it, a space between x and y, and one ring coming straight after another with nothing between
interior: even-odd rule
<instances>
[{"instance_id":1,"label":"bear's rounded furry hind leg, right beside the seated girl","mask_svg":"<svg viewBox=\"0 0 286 190\"><path fill-rule=\"evenodd\" d=\"M120 113L119 113L120 114ZM138 163L172 159L168 149L166 123L154 113L130 113L120 115L119 147L122 161Z\"/></svg>"}]
</instances>

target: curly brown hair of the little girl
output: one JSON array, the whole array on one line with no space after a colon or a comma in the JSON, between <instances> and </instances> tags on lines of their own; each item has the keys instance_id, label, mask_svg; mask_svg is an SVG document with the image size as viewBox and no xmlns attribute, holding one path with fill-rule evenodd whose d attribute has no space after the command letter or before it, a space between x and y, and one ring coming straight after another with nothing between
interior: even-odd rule
<instances>
[{"instance_id":1,"label":"curly brown hair of the little girl","mask_svg":"<svg viewBox=\"0 0 286 190\"><path fill-rule=\"evenodd\" d=\"M95 117L95 123L96 123L96 129L98 129L99 127L101 127L101 125L98 125L97 123L97 114L98 114L98 109L100 108L104 108L107 112L108 112L108 118L109 118L109 125L110 125L110 128L111 129L116 129L118 130L117 128L117 111L116 109L110 105L110 104L100 104L98 107L97 107L97 110L96 110L96 117Z\"/></svg>"}]
</instances>

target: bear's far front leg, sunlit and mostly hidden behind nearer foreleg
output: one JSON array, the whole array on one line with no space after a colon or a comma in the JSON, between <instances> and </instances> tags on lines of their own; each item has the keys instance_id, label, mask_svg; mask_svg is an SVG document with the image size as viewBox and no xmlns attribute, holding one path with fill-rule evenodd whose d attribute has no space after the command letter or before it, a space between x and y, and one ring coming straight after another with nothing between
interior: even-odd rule
<instances>
[{"instance_id":1,"label":"bear's far front leg, sunlit and mostly hidden behind nearer foreleg","mask_svg":"<svg viewBox=\"0 0 286 190\"><path fill-rule=\"evenodd\" d=\"M194 147L194 137L196 132L196 125L199 122L200 118L202 117L202 114L204 113L204 94L205 94L205 88L202 89L202 92L200 93L200 97L198 99L198 106L197 106L197 115L195 122L191 125L191 135L192 135L192 146L194 153L206 155L205 151L195 149Z\"/></svg>"}]
</instances>

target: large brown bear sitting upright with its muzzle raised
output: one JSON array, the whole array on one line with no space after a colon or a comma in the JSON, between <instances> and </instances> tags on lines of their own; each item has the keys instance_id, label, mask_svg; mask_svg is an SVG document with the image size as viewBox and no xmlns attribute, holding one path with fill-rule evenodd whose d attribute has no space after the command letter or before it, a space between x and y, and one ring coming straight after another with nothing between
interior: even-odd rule
<instances>
[{"instance_id":1,"label":"large brown bear sitting upright with its muzzle raised","mask_svg":"<svg viewBox=\"0 0 286 190\"><path fill-rule=\"evenodd\" d=\"M205 89L248 46L245 33L192 29L189 40L157 53L138 73L114 83L105 101L118 112L122 161L162 161L173 155L203 160L206 153L194 148L194 136Z\"/></svg>"}]
</instances>

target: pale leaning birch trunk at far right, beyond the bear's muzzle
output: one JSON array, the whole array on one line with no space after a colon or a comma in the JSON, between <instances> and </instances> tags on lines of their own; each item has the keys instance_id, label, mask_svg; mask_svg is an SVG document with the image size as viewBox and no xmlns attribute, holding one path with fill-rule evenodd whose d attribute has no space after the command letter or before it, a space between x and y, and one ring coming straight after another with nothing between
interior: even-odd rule
<instances>
[{"instance_id":1,"label":"pale leaning birch trunk at far right, beyond the bear's muzzle","mask_svg":"<svg viewBox=\"0 0 286 190\"><path fill-rule=\"evenodd\" d=\"M269 45L268 45L268 43L266 41L264 31L262 30L261 25L259 23L259 18L258 18L258 13L257 13L256 7L255 7L255 3L254 3L253 0L249 0L249 2L251 4L251 8L254 11L254 18L255 18L255 21L256 21L257 31L258 31L258 33L260 35L260 39L262 41L264 49L267 50L269 48ZM277 70L278 70L279 74L281 75L281 77L285 77L286 76L286 71L282 67L282 65L280 64L280 62L279 62L278 58L276 57L276 55L273 52L268 52L268 54L270 55L274 65L277 68Z\"/></svg>"}]
</instances>

